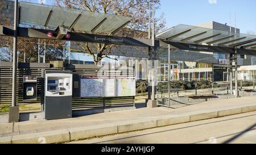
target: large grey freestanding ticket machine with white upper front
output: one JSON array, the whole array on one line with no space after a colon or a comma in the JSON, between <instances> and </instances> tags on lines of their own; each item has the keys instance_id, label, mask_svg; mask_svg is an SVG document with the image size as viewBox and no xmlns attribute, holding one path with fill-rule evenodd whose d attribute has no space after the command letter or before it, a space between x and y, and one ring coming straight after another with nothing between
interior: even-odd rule
<instances>
[{"instance_id":1,"label":"large grey freestanding ticket machine with white upper front","mask_svg":"<svg viewBox=\"0 0 256 155\"><path fill-rule=\"evenodd\" d=\"M72 118L72 76L72 71L45 71L45 119Z\"/></svg>"}]
</instances>

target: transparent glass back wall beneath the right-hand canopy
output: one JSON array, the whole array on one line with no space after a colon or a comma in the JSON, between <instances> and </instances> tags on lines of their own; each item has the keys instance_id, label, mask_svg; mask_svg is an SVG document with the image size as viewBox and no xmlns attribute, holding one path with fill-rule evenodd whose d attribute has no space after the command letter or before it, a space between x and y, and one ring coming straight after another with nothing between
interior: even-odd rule
<instances>
[{"instance_id":1,"label":"transparent glass back wall beneath the right-hand canopy","mask_svg":"<svg viewBox=\"0 0 256 155\"><path fill-rule=\"evenodd\" d=\"M171 50L170 85L167 80L168 49L158 49L157 55L160 60L157 85L159 105L178 108L197 104L202 101L200 99L229 95L229 61L226 61L229 59L228 55Z\"/></svg>"}]
</instances>

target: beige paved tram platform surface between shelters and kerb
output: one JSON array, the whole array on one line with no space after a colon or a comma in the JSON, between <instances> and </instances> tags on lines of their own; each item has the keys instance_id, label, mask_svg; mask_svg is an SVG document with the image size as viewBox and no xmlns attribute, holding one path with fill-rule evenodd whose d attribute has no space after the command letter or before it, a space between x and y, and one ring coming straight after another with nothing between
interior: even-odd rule
<instances>
[{"instance_id":1,"label":"beige paved tram platform surface between shelters and kerb","mask_svg":"<svg viewBox=\"0 0 256 155\"><path fill-rule=\"evenodd\" d=\"M213 115L213 113L214 115L216 115L215 111L218 111L218 110L224 110L222 111L223 113L218 113L218 115L219 114L223 115L226 113L225 109L232 110L240 107L249 107L249 106L253 106L255 109L256 96L230 98L225 100L212 100L212 101L202 102L196 105L181 107L179 109L170 109L170 108L168 109L167 107L158 107L154 109L142 108L142 109L135 109L135 110L127 110L127 111L115 111L112 113L87 115L85 117L71 118L71 119L33 120L29 122L19 122L19 123L1 123L0 124L0 142L3 139L7 139L8 141L9 139L7 137L10 137L10 139L12 139L15 136L21 135L19 139L23 139L24 137L28 137L29 134L37 134L36 136L38 135L40 136L40 133L43 134L46 132L54 132L54 131L56 132L65 131L64 135L67 135L67 139L68 139L70 138L68 137L68 134L70 136L72 130L75 130L75 131L72 131L72 133L73 132L76 133L76 132L83 131L84 127L93 127L93 126L99 126L99 125L101 126L101 128L104 128L104 126L110 126L110 125L113 125L113 127L115 126L116 128L117 125L121 124L121 126L118 127L117 131L113 131L113 130L108 131L108 133L112 133L112 132L119 133L120 131L119 128L122 128L122 127L126 128L126 126L122 126L123 122L129 122L129 123L132 122L131 126L127 126L127 127L131 127L130 130L134 131L134 128L137 127L134 121L143 122L143 121L152 120L153 122L146 122L146 124L145 123L140 124L142 128L143 127L150 128L148 126L151 126L151 125L152 127L157 126L156 124L154 124L156 123L154 122L155 121L154 119L158 117L166 116L169 118L170 117L173 118L173 117L181 116L181 119L182 119L182 116L188 115L188 118L190 116L190 119L200 120L201 119L200 117L208 117L207 115L209 115L209 118L214 118L215 116L211 117L211 115ZM236 113L236 111L234 111L234 113ZM193 114L196 114L196 115L192 117ZM200 114L207 114L207 115L201 116ZM204 118L204 119L207 119L207 118ZM188 120L187 122L189 121L193 121L193 120ZM80 129L76 131L77 128L80 128ZM92 129L86 128L86 130L92 130ZM103 132L105 132L105 130ZM63 136L61 138L63 138ZM49 138L49 139L52 139L52 138ZM23 143L23 142L20 142L20 143Z\"/></svg>"}]
</instances>

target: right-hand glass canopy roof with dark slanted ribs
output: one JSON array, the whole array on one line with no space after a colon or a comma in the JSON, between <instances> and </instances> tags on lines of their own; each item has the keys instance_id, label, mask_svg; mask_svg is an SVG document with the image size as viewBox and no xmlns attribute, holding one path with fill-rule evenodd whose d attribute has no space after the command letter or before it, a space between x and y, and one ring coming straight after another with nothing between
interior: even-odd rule
<instances>
[{"instance_id":1,"label":"right-hand glass canopy roof with dark slanted ribs","mask_svg":"<svg viewBox=\"0 0 256 155\"><path fill-rule=\"evenodd\" d=\"M230 48L240 48L243 46L243 48L246 49L254 49L256 46L255 35L220 31L184 24L179 24L167 29L156 35L156 38L192 44L228 46Z\"/></svg>"}]
</instances>

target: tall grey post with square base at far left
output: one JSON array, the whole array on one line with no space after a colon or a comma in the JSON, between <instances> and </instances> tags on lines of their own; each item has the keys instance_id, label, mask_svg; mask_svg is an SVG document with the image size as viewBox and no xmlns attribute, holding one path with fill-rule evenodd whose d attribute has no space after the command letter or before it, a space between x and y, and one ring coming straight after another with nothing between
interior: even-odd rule
<instances>
[{"instance_id":1,"label":"tall grey post with square base at far left","mask_svg":"<svg viewBox=\"0 0 256 155\"><path fill-rule=\"evenodd\" d=\"M18 0L14 3L14 35L13 35L13 89L11 106L9 107L9 122L19 121L19 107L16 106L16 69L17 69L17 30L18 30Z\"/></svg>"}]
</instances>

